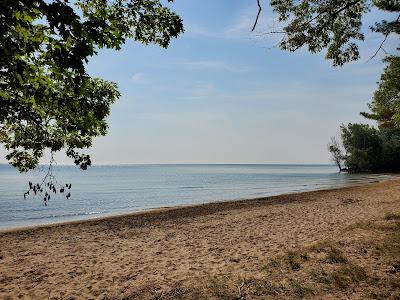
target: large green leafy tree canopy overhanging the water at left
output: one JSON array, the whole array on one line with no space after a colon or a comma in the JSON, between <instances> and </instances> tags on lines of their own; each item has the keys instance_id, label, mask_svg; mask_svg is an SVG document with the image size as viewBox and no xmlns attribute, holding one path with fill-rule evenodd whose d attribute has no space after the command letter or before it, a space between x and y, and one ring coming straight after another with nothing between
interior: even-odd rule
<instances>
[{"instance_id":1,"label":"large green leafy tree canopy overhanging the water at left","mask_svg":"<svg viewBox=\"0 0 400 300\"><path fill-rule=\"evenodd\" d=\"M168 2L171 2L169 0ZM0 143L21 172L45 149L86 169L81 149L107 132L117 85L86 71L101 48L127 39L168 47L181 18L160 0L3 0L0 3Z\"/></svg>"}]
</instances>

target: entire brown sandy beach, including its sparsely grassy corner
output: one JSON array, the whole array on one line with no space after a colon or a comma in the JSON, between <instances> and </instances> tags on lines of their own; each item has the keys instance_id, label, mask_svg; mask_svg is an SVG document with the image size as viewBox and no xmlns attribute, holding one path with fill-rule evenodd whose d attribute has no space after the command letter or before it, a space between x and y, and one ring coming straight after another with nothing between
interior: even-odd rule
<instances>
[{"instance_id":1,"label":"entire brown sandy beach, including its sparsely grassy corner","mask_svg":"<svg viewBox=\"0 0 400 300\"><path fill-rule=\"evenodd\" d=\"M1 232L0 298L397 299L399 211L393 179Z\"/></svg>"}]
</instances>

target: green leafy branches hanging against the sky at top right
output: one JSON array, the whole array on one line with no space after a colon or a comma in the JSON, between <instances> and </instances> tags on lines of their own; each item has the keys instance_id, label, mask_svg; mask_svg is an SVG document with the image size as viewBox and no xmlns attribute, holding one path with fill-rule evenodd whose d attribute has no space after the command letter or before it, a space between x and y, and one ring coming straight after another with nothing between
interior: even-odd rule
<instances>
[{"instance_id":1,"label":"green leafy branches hanging against the sky at top right","mask_svg":"<svg viewBox=\"0 0 400 300\"><path fill-rule=\"evenodd\" d=\"M271 6L285 26L281 49L296 51L306 46L316 53L327 49L326 58L335 66L357 60L358 42L365 36L362 16L372 7L400 12L398 0L272 0ZM400 32L399 18L383 20L371 29L388 36ZM381 48L379 48L381 49Z\"/></svg>"}]
</instances>

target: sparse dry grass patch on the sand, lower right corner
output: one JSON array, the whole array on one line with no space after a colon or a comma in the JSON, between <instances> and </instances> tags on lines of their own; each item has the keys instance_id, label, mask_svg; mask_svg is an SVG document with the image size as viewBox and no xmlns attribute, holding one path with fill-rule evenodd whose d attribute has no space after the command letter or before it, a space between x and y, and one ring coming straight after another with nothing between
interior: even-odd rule
<instances>
[{"instance_id":1,"label":"sparse dry grass patch on the sand, lower right corner","mask_svg":"<svg viewBox=\"0 0 400 300\"><path fill-rule=\"evenodd\" d=\"M341 244L341 240L321 241L268 258L266 264L261 268L268 272L261 275L261 278L240 279L240 283L232 282L226 277L210 278L201 295L205 296L204 299L273 299L280 296L308 298L325 294L337 296L344 291L347 293L363 283L360 287L363 289L364 296L376 295L377 299L384 299L385 295L392 295L391 299L396 299L393 298L393 295L400 288L400 280L394 279L400 274L399 218L400 213L388 213L385 216L386 221L381 219L358 222L349 227L349 229L372 230L371 234L363 232L361 242L379 245L379 249L377 248L379 252L375 250L368 251L368 253L354 251L360 247L359 244L354 244L359 243L358 240L355 240L354 243L347 241L346 244ZM359 236L356 238L360 239ZM363 261L379 256L383 262L382 266L386 265L386 270L387 267L390 269L387 272L388 275L382 273L383 268L379 273L380 278L374 275L375 273L368 275L366 270L369 268L364 269L359 263L361 257L350 259L347 256L345 250L348 248L351 248L351 253L361 253ZM370 252L374 255L373 257ZM367 262L369 263L369 261ZM379 263L380 265L381 263ZM392 279L397 283L390 283Z\"/></svg>"}]
</instances>

